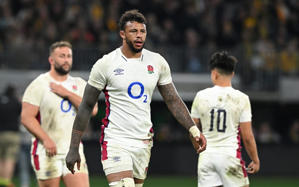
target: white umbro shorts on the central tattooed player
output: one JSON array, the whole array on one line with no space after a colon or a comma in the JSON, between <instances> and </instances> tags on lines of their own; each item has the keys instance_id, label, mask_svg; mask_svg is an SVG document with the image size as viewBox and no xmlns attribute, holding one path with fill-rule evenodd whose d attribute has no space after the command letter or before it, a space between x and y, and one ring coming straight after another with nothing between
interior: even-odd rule
<instances>
[{"instance_id":1,"label":"white umbro shorts on the central tattooed player","mask_svg":"<svg viewBox=\"0 0 299 187\"><path fill-rule=\"evenodd\" d=\"M133 177L141 180L146 178L151 148L136 148L104 141L101 149L106 176L132 170Z\"/></svg>"}]
</instances>

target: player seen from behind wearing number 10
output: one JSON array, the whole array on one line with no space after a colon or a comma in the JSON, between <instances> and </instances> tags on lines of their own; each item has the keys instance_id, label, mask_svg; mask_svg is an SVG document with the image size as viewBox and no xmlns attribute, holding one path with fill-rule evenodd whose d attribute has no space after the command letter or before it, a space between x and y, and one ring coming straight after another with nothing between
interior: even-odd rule
<instances>
[{"instance_id":1,"label":"player seen from behind wearing number 10","mask_svg":"<svg viewBox=\"0 0 299 187\"><path fill-rule=\"evenodd\" d=\"M236 63L226 51L213 54L208 65L214 87L199 91L192 104L191 116L208 142L198 159L199 187L249 186L247 172L260 168L249 98L231 86ZM241 157L241 135L252 160L247 172ZM198 144L191 141L197 150Z\"/></svg>"}]
</instances>

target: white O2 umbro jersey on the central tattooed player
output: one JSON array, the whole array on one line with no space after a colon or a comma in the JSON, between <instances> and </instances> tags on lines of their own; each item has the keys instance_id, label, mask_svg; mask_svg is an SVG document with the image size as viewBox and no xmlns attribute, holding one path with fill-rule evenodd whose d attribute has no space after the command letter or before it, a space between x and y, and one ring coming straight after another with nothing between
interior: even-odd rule
<instances>
[{"instance_id":1,"label":"white O2 umbro jersey on the central tattooed player","mask_svg":"<svg viewBox=\"0 0 299 187\"><path fill-rule=\"evenodd\" d=\"M150 102L156 85L171 83L170 68L158 53L142 50L140 58L126 58L120 48L98 60L88 83L105 94L106 117L100 142L152 147Z\"/></svg>"}]
</instances>

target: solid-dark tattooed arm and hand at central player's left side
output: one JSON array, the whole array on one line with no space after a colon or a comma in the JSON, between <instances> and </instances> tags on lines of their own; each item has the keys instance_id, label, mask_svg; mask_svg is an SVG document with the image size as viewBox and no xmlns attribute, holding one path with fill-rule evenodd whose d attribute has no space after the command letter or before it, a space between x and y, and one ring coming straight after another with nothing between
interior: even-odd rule
<instances>
[{"instance_id":1,"label":"solid-dark tattooed arm and hand at central player's left side","mask_svg":"<svg viewBox=\"0 0 299 187\"><path fill-rule=\"evenodd\" d=\"M80 154L79 154L79 145L83 132L85 131L91 113L97 100L99 98L101 91L97 88L86 84L84 95L81 104L79 105L78 112L74 121L71 144L68 150L68 154L65 157L66 167L71 171L72 174L75 173L74 165L77 162L77 169L80 170Z\"/></svg>"}]
</instances>

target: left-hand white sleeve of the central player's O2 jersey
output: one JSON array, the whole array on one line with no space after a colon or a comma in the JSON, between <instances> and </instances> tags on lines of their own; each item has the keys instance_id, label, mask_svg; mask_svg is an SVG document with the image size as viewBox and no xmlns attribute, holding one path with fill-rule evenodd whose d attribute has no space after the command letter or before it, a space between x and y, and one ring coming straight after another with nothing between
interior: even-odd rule
<instances>
[{"instance_id":1,"label":"left-hand white sleeve of the central player's O2 jersey","mask_svg":"<svg viewBox=\"0 0 299 187\"><path fill-rule=\"evenodd\" d=\"M98 60L92 67L90 75L89 75L89 80L87 81L91 86L99 89L102 91L107 83L107 57L104 55L103 58Z\"/></svg>"}]
</instances>

